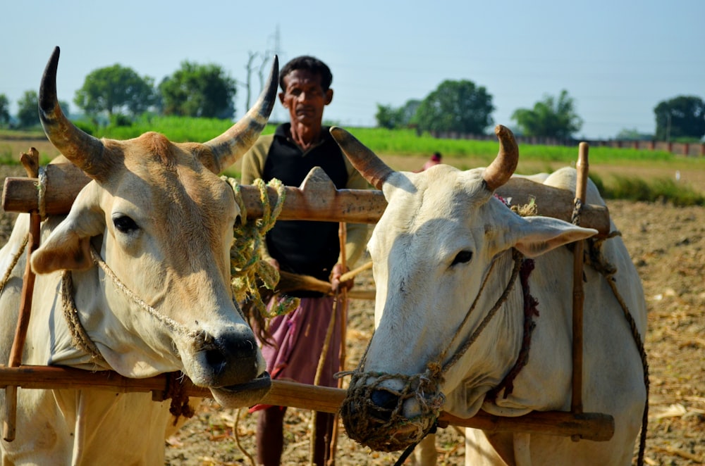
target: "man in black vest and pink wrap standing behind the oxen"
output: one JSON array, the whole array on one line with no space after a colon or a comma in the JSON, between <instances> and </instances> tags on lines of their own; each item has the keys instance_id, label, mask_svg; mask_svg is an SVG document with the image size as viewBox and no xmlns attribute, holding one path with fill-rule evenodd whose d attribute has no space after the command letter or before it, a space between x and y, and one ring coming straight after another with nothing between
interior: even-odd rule
<instances>
[{"instance_id":1,"label":"man in black vest and pink wrap standing behind the oxen","mask_svg":"<svg viewBox=\"0 0 705 466\"><path fill-rule=\"evenodd\" d=\"M243 184L257 178L281 180L298 187L308 172L321 167L336 188L367 189L368 184L350 165L341 149L322 125L324 107L333 99L333 75L328 66L311 56L294 58L281 69L279 100L289 112L290 122L274 134L259 138L243 158ZM367 240L367 225L350 224L345 244L346 264L360 257ZM276 222L266 234L264 258L287 272L330 280L331 290L352 286L340 283L341 265L338 224L290 220ZM333 313L333 298L312 291L292 292L300 305L288 315L274 317L269 324L272 342L263 342L262 353L273 379L313 384L326 330ZM276 306L278 297L269 306ZM341 342L340 314L336 318L319 384L337 386ZM286 407L257 406L257 463L278 465L283 450L283 419ZM314 462L324 465L331 441L333 415L319 413L316 423Z\"/></svg>"}]
</instances>

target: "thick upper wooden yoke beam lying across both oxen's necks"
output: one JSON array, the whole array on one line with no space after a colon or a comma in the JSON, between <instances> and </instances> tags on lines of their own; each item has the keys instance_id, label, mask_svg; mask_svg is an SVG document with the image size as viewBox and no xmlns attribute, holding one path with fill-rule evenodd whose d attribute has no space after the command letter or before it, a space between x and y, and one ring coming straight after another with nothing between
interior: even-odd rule
<instances>
[{"instance_id":1,"label":"thick upper wooden yoke beam lying across both oxen's necks","mask_svg":"<svg viewBox=\"0 0 705 466\"><path fill-rule=\"evenodd\" d=\"M73 199L89 182L72 163L47 165L47 215L68 213ZM244 185L240 191L247 208L247 218L262 216L259 188ZM497 189L497 194L512 198L514 205L537 200L538 215L570 222L574 194L566 189L511 178ZM276 203L276 189L267 187L270 205ZM321 168L309 172L301 187L286 187L286 199L278 220L320 220L326 222L376 223L384 213L386 200L374 189L336 189ZM2 206L7 212L30 212L37 209L37 180L25 177L7 177L2 195ZM604 206L583 206L581 225L607 235L610 229L609 211Z\"/></svg>"}]
</instances>

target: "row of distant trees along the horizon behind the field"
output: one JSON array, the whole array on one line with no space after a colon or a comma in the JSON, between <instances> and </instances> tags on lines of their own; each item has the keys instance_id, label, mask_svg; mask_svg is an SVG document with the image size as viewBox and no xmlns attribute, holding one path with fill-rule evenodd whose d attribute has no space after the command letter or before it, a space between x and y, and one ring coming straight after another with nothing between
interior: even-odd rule
<instances>
[{"instance_id":1,"label":"row of distant trees along the horizon behind the field","mask_svg":"<svg viewBox=\"0 0 705 466\"><path fill-rule=\"evenodd\" d=\"M220 65L183 61L172 75L155 86L154 79L140 76L132 68L116 64L92 71L75 94L73 103L98 125L130 125L146 112L195 118L233 119L238 85L245 87L245 111L250 106L252 73L264 81L267 58L255 69L258 53L250 53L247 81L238 82ZM492 95L484 86L470 80L445 80L424 99L410 99L394 108L377 103L376 124L388 129L416 128L418 132L456 132L486 134L494 125ZM68 103L61 106L68 113ZM622 130L618 139L656 139L661 141L700 140L705 135L705 101L698 96L676 96L654 108L655 134ZM102 119L102 120L101 120ZM511 120L517 134L556 139L572 139L583 120L575 110L575 100L563 89L558 96L546 95L533 108L517 108ZM9 101L0 94L0 127L30 128L39 125L37 92L26 91L18 101L13 120Z\"/></svg>"}]
</instances>

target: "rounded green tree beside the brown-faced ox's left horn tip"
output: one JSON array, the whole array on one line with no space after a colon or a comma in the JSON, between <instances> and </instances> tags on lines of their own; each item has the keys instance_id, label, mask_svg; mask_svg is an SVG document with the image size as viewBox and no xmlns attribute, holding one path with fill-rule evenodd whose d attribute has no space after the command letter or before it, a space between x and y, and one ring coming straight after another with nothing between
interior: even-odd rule
<instances>
[{"instance_id":1,"label":"rounded green tree beside the brown-faced ox's left horn tip","mask_svg":"<svg viewBox=\"0 0 705 466\"><path fill-rule=\"evenodd\" d=\"M111 119L117 114L134 118L156 103L154 80L118 64L99 68L86 76L73 102L88 115L105 112Z\"/></svg>"}]
</instances>

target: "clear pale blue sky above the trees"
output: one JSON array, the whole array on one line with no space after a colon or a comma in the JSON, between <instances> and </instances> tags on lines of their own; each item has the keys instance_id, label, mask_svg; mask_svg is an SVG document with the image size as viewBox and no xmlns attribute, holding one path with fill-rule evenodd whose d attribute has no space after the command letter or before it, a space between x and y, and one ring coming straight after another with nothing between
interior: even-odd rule
<instances>
[{"instance_id":1,"label":"clear pale blue sky above the trees","mask_svg":"<svg viewBox=\"0 0 705 466\"><path fill-rule=\"evenodd\" d=\"M0 94L13 114L56 45L71 111L97 68L119 63L158 83L189 60L244 81L248 53L276 48L282 64L309 54L330 65L324 117L343 126L373 126L377 103L403 106L447 79L486 87L509 127L515 109L567 89L589 139L653 133L658 102L705 99L705 0L22 0L1 11ZM238 115L244 106L238 89Z\"/></svg>"}]
</instances>

